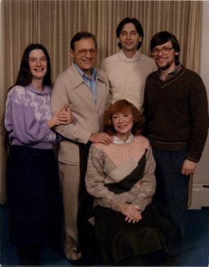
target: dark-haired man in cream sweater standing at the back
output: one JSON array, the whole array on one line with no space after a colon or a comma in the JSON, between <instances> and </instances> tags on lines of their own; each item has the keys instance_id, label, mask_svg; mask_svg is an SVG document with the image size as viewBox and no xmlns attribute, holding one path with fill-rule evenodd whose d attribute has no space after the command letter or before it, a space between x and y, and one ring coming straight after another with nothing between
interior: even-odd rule
<instances>
[{"instance_id":1,"label":"dark-haired man in cream sweater standing at the back","mask_svg":"<svg viewBox=\"0 0 209 267\"><path fill-rule=\"evenodd\" d=\"M157 70L152 58L139 51L144 31L138 19L126 17L116 29L120 51L102 61L110 85L111 104L127 99L141 111L144 86L150 72Z\"/></svg>"}]
</instances>

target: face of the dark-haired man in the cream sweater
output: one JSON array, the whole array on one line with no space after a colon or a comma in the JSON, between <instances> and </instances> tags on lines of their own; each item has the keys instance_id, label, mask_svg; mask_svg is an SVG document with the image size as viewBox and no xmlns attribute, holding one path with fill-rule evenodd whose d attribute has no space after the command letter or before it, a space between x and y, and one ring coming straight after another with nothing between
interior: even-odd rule
<instances>
[{"instance_id":1,"label":"face of the dark-haired man in the cream sweater","mask_svg":"<svg viewBox=\"0 0 209 267\"><path fill-rule=\"evenodd\" d=\"M123 29L119 36L119 41L121 42L121 46L123 52L132 51L137 52L137 45L141 42L142 37L139 36L136 27L134 24L127 23L123 26Z\"/></svg>"}]
</instances>

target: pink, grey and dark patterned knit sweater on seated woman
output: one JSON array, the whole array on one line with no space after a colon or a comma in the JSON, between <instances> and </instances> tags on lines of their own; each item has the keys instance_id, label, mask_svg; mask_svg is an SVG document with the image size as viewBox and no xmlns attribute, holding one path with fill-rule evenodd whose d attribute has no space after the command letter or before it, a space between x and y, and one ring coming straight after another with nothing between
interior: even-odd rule
<instances>
[{"instance_id":1,"label":"pink, grey and dark patterned knit sweater on seated woman","mask_svg":"<svg viewBox=\"0 0 209 267\"><path fill-rule=\"evenodd\" d=\"M93 144L88 155L86 188L100 205L120 211L125 202L144 211L155 193L155 161L148 139L135 136L123 145Z\"/></svg>"}]
</instances>

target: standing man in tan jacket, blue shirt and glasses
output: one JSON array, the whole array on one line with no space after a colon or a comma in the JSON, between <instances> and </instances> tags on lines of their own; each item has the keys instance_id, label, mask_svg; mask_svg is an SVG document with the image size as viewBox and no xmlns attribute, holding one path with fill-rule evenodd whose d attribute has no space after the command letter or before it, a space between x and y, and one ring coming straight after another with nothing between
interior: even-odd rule
<instances>
[{"instance_id":1,"label":"standing man in tan jacket, blue shirt and glasses","mask_svg":"<svg viewBox=\"0 0 209 267\"><path fill-rule=\"evenodd\" d=\"M64 253L71 264L82 264L77 215L82 202L80 193L84 191L81 170L85 169L86 147L90 143L111 143L111 136L101 128L103 113L109 104L109 82L104 72L93 67L96 55L95 36L88 32L77 33L70 42L70 57L74 62L59 74L52 90L52 109L56 111L65 103L74 118L72 124L55 127L64 137L59 145L59 174L63 193Z\"/></svg>"}]
</instances>

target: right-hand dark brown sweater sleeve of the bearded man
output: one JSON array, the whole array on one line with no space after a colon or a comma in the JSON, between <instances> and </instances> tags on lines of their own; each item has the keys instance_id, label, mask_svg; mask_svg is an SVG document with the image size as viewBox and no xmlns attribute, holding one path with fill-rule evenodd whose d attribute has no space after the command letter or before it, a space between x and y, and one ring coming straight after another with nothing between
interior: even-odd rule
<instances>
[{"instance_id":1,"label":"right-hand dark brown sweater sleeve of the bearded man","mask_svg":"<svg viewBox=\"0 0 209 267\"><path fill-rule=\"evenodd\" d=\"M189 90L189 111L191 115L191 132L187 147L186 158L198 162L203 152L208 135L208 99L206 88L201 77L192 72Z\"/></svg>"}]
</instances>

